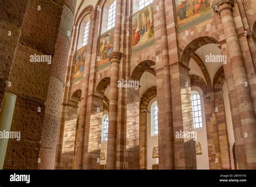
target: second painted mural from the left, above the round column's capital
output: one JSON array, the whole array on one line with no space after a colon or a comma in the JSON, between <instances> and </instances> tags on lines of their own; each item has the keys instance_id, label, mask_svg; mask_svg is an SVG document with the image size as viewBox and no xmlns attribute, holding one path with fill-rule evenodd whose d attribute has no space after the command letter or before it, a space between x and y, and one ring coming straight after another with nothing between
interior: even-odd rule
<instances>
[{"instance_id":1,"label":"second painted mural from the left, above the round column's capital","mask_svg":"<svg viewBox=\"0 0 256 187\"><path fill-rule=\"evenodd\" d=\"M99 61L98 61L98 69L103 68L110 64L110 60L107 55L113 52L114 47L114 28L107 31L106 33L100 36L99 40Z\"/></svg>"}]
</instances>

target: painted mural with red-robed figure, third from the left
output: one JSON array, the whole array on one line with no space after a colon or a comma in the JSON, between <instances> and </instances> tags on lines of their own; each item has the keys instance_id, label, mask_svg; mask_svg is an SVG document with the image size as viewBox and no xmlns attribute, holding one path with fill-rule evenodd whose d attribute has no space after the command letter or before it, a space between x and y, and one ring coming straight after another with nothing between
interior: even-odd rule
<instances>
[{"instance_id":1,"label":"painted mural with red-robed figure, third from the left","mask_svg":"<svg viewBox=\"0 0 256 187\"><path fill-rule=\"evenodd\" d=\"M132 16L132 53L154 44L153 6Z\"/></svg>"}]
</instances>

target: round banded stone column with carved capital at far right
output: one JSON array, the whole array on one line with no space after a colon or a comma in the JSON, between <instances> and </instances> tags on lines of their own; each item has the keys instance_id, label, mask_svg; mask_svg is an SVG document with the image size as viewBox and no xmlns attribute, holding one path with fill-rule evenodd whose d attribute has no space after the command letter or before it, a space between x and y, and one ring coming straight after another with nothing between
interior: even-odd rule
<instances>
[{"instance_id":1,"label":"round banded stone column with carved capital at far right","mask_svg":"<svg viewBox=\"0 0 256 187\"><path fill-rule=\"evenodd\" d=\"M253 102L249 82L246 74L245 63L241 52L237 29L232 15L234 0L213 1L213 10L219 13L223 30L226 37L228 55L234 79L234 87L237 91L239 106L241 132L244 136L244 147L246 153L245 169L256 168L256 125ZM245 86L247 83L247 87ZM238 143L238 142L237 142ZM239 142L240 144L241 142ZM241 168L242 169L242 168Z\"/></svg>"}]
</instances>

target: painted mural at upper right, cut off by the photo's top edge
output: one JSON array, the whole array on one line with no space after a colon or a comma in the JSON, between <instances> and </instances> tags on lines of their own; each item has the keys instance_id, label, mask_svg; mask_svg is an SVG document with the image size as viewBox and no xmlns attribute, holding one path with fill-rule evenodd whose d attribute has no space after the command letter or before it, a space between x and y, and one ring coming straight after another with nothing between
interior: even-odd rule
<instances>
[{"instance_id":1,"label":"painted mural at upper right, cut off by the photo's top edge","mask_svg":"<svg viewBox=\"0 0 256 187\"><path fill-rule=\"evenodd\" d=\"M179 31L212 17L208 0L175 0L175 4Z\"/></svg>"}]
</instances>

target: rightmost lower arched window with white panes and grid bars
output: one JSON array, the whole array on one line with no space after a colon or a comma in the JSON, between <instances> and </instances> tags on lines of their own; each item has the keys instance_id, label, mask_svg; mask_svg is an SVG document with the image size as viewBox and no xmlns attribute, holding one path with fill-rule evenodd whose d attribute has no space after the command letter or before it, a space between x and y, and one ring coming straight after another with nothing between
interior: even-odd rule
<instances>
[{"instance_id":1,"label":"rightmost lower arched window with white panes and grid bars","mask_svg":"<svg viewBox=\"0 0 256 187\"><path fill-rule=\"evenodd\" d=\"M202 111L201 111L201 100L198 93L192 93L192 111L193 111L193 123L194 128L202 128Z\"/></svg>"}]
</instances>

